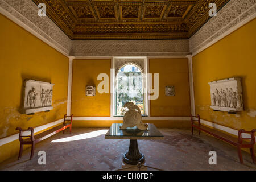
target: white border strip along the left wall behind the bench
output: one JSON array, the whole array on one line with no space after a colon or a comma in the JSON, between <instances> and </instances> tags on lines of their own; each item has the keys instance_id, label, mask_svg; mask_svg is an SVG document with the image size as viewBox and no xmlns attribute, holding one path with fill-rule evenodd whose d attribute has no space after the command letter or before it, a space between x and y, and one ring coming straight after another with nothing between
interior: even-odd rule
<instances>
[{"instance_id":1,"label":"white border strip along the left wall behind the bench","mask_svg":"<svg viewBox=\"0 0 256 182\"><path fill-rule=\"evenodd\" d=\"M39 131L48 129L49 127L55 126L55 125L57 125L59 123L62 123L62 122L63 122L63 119L59 119L57 121L53 121L51 123L47 123L46 125L35 127L34 131L35 131L35 133L37 133ZM30 135L31 132L30 131L26 131L23 134L24 135ZM10 135L9 137L2 138L2 139L0 139L0 146L2 146L3 144L6 144L6 143L13 142L13 141L18 140L18 139L19 139L19 134L14 134L14 135Z\"/></svg>"}]
</instances>

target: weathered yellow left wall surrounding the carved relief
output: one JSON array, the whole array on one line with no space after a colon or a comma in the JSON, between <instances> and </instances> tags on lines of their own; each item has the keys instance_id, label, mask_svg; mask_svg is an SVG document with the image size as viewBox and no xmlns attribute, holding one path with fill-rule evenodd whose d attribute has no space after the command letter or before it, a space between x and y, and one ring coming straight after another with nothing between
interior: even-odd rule
<instances>
[{"instance_id":1,"label":"weathered yellow left wall surrounding the carved relief","mask_svg":"<svg viewBox=\"0 0 256 182\"><path fill-rule=\"evenodd\" d=\"M63 118L67 110L68 57L0 14L0 138ZM52 82L53 110L20 114L23 81ZM0 146L0 162L18 153L18 141Z\"/></svg>"}]
</instances>

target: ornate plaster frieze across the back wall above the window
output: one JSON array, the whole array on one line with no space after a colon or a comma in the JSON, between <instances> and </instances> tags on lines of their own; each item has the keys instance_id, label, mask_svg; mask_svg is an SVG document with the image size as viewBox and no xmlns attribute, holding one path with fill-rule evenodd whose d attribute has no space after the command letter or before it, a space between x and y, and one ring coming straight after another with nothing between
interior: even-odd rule
<instances>
[{"instance_id":1,"label":"ornate plaster frieze across the back wall above the window","mask_svg":"<svg viewBox=\"0 0 256 182\"><path fill-rule=\"evenodd\" d=\"M73 40L73 56L188 55L188 40Z\"/></svg>"}]
</instances>

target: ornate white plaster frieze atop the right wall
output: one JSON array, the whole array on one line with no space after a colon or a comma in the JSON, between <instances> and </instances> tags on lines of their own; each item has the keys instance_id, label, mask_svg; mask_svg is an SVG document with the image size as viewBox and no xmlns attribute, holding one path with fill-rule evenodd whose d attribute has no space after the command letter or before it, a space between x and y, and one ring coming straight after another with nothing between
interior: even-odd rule
<instances>
[{"instance_id":1,"label":"ornate white plaster frieze atop the right wall","mask_svg":"<svg viewBox=\"0 0 256 182\"><path fill-rule=\"evenodd\" d=\"M216 17L212 17L199 31L189 39L189 48L193 55L203 51L228 32L236 30L246 19L256 17L256 0L230 0Z\"/></svg>"}]
</instances>

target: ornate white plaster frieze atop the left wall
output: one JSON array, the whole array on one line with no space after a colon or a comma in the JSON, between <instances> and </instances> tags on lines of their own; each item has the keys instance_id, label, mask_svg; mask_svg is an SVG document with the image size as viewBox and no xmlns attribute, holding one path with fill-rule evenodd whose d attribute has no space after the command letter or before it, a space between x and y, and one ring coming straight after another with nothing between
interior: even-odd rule
<instances>
[{"instance_id":1,"label":"ornate white plaster frieze atop the left wall","mask_svg":"<svg viewBox=\"0 0 256 182\"><path fill-rule=\"evenodd\" d=\"M48 16L38 16L31 0L0 0L0 12L64 55L69 55L71 40Z\"/></svg>"}]
</instances>

